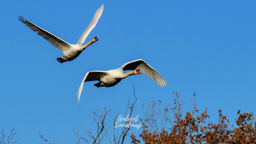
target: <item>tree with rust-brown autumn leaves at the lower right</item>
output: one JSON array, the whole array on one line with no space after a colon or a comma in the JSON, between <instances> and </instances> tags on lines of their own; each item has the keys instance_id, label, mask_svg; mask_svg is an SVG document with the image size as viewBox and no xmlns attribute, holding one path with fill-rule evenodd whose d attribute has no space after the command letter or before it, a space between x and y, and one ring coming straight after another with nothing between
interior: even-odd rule
<instances>
[{"instance_id":1,"label":"tree with rust-brown autumn leaves at the lower right","mask_svg":"<svg viewBox=\"0 0 256 144\"><path fill-rule=\"evenodd\" d=\"M229 120L219 111L217 124L206 122L209 118L207 109L199 113L196 101L192 102L193 110L182 116L179 94L174 93L174 106L164 106L156 110L155 102L146 107L144 111L143 131L139 135L131 135L131 143L139 144L254 144L256 143L256 122L252 113L241 114L238 111L237 126L229 126ZM144 108L144 106L143 106ZM170 114L172 113L172 116ZM170 127L165 126L169 124Z\"/></svg>"}]
</instances>

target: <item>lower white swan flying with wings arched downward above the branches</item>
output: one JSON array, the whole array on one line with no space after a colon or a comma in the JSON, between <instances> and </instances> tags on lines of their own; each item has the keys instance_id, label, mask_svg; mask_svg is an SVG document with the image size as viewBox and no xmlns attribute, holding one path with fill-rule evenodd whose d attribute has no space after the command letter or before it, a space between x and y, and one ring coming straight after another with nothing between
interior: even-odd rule
<instances>
[{"instance_id":1,"label":"lower white swan flying with wings arched downward above the branches","mask_svg":"<svg viewBox=\"0 0 256 144\"><path fill-rule=\"evenodd\" d=\"M132 70L124 73L126 70ZM77 99L78 106L80 95L83 89L84 82L99 81L94 84L96 87L112 87L118 84L122 79L131 76L145 73L148 77L154 80L160 87L166 86L167 82L161 77L161 75L147 64L143 59L138 59L124 63L121 67L108 71L89 71L85 74L82 83L78 89Z\"/></svg>"}]
</instances>

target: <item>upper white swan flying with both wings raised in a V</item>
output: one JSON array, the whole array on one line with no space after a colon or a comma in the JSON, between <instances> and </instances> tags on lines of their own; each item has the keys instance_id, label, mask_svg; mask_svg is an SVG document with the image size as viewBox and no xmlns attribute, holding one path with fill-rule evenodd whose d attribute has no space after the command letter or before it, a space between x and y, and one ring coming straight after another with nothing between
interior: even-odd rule
<instances>
[{"instance_id":1,"label":"upper white swan flying with both wings raised in a V","mask_svg":"<svg viewBox=\"0 0 256 144\"><path fill-rule=\"evenodd\" d=\"M53 35L52 33L40 28L39 26L29 22L24 17L19 16L18 20L23 22L25 25L27 25L31 30L36 32L38 35L42 36L44 39L46 39L48 42L50 42L52 45L57 47L63 52L63 56L60 58L57 58L57 61L60 63L66 62L66 61L72 61L76 57L78 57L81 52L87 48L92 43L96 42L98 40L97 37L94 37L91 41L89 41L87 44L83 45L86 37L89 35L89 33L92 31L92 29L96 26L101 14L103 12L103 4L100 8L95 12L92 21L87 26L83 34L80 36L79 40L76 44L69 44L65 42L64 40L58 38L57 36Z\"/></svg>"}]
</instances>

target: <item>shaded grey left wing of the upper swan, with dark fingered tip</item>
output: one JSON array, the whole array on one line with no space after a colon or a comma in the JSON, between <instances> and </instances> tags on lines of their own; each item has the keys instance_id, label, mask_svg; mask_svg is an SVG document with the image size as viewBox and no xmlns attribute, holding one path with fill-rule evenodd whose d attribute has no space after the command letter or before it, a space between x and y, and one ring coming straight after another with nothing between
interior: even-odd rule
<instances>
[{"instance_id":1,"label":"shaded grey left wing of the upper swan, with dark fingered tip","mask_svg":"<svg viewBox=\"0 0 256 144\"><path fill-rule=\"evenodd\" d=\"M36 32L38 35L40 35L41 37L43 37L44 39L46 39L48 42L50 42L52 45L54 45L55 47L59 48L62 52L68 50L71 45L67 42L65 42L64 40L56 37L55 35L51 34L50 32L40 28L39 26L29 22L28 20L26 20L24 17L19 16L18 20L20 20L21 22L23 22L25 25L27 25L31 30L33 30L34 32Z\"/></svg>"}]
</instances>

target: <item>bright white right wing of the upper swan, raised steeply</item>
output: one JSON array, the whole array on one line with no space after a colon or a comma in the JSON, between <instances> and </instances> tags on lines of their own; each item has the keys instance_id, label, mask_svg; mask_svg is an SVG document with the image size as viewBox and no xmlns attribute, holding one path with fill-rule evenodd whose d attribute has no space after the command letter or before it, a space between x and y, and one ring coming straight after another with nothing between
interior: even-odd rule
<instances>
[{"instance_id":1,"label":"bright white right wing of the upper swan, raised steeply","mask_svg":"<svg viewBox=\"0 0 256 144\"><path fill-rule=\"evenodd\" d=\"M77 44L79 45L83 45L85 39L87 38L87 36L89 35L89 33L92 31L92 29L96 26L102 12L103 12L103 4L100 6L100 8L98 8L98 10L95 12L92 21L90 22L90 24L87 26L87 28L85 29L85 31L83 32L83 34L80 36L79 40L77 41Z\"/></svg>"}]
</instances>

